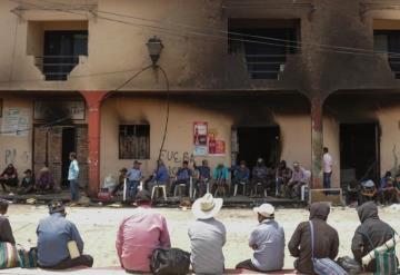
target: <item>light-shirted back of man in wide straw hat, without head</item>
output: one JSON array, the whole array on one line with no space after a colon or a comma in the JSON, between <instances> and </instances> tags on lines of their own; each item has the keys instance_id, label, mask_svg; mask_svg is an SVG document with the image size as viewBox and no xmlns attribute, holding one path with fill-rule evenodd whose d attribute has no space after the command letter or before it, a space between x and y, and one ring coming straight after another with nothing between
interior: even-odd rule
<instances>
[{"instance_id":1,"label":"light-shirted back of man in wide straw hat, without head","mask_svg":"<svg viewBox=\"0 0 400 275\"><path fill-rule=\"evenodd\" d=\"M189 227L191 263L196 274L223 273L226 235L224 225L214 218L197 219Z\"/></svg>"}]
</instances>

